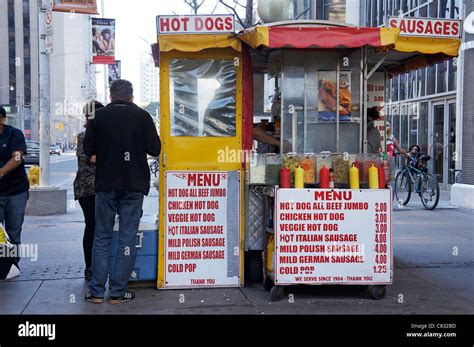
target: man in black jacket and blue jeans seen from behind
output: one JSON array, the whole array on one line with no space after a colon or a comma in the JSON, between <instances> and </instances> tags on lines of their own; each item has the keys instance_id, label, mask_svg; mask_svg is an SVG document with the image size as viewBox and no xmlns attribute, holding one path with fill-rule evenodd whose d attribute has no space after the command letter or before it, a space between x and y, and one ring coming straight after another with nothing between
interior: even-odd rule
<instances>
[{"instance_id":1,"label":"man in black jacket and blue jeans seen from behind","mask_svg":"<svg viewBox=\"0 0 474 347\"><path fill-rule=\"evenodd\" d=\"M128 280L135 264L143 199L150 191L147 155L158 157L161 142L150 114L133 103L133 86L129 81L114 81L110 99L107 107L95 112L84 138L85 153L97 157L92 279L86 300L104 302L109 276L110 303L119 304L135 298L128 291ZM110 271L116 215L119 246L114 271Z\"/></svg>"}]
</instances>

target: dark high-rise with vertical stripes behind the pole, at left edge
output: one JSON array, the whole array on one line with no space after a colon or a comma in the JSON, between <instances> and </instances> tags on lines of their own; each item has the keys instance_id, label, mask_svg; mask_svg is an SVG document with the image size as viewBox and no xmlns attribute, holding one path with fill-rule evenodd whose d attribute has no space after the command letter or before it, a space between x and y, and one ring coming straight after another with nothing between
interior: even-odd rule
<instances>
[{"instance_id":1,"label":"dark high-rise with vertical stripes behind the pole, at left edge","mask_svg":"<svg viewBox=\"0 0 474 347\"><path fill-rule=\"evenodd\" d=\"M0 104L12 106L11 124L39 138L37 0L0 1Z\"/></svg>"}]
</instances>

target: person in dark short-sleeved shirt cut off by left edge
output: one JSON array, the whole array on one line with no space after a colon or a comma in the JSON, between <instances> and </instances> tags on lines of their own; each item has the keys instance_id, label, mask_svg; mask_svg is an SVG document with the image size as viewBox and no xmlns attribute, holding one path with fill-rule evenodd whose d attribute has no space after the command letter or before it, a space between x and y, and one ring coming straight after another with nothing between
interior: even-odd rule
<instances>
[{"instance_id":1,"label":"person in dark short-sleeved shirt cut off by left edge","mask_svg":"<svg viewBox=\"0 0 474 347\"><path fill-rule=\"evenodd\" d=\"M23 162L27 149L25 136L21 130L6 125L6 117L5 109L0 107L0 222L16 247L13 263L19 268L21 230L30 189Z\"/></svg>"}]
</instances>

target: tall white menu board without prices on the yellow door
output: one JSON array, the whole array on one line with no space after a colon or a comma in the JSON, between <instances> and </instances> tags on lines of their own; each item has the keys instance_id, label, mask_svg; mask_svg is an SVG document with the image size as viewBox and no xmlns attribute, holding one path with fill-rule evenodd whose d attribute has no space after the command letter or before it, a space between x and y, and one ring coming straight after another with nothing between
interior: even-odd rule
<instances>
[{"instance_id":1,"label":"tall white menu board without prices on the yellow door","mask_svg":"<svg viewBox=\"0 0 474 347\"><path fill-rule=\"evenodd\" d=\"M239 286L240 182L231 176L167 172L165 288Z\"/></svg>"}]
</instances>

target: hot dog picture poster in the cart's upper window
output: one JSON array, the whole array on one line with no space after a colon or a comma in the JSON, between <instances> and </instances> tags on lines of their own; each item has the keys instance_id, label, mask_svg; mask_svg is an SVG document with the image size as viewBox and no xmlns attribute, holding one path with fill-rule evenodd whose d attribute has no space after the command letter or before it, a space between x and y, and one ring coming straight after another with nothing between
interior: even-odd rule
<instances>
[{"instance_id":1,"label":"hot dog picture poster in the cart's upper window","mask_svg":"<svg viewBox=\"0 0 474 347\"><path fill-rule=\"evenodd\" d=\"M337 72L319 71L318 111L320 122L335 122L337 107L339 120L350 122L351 117L351 71L339 73L339 102L337 102Z\"/></svg>"}]
</instances>

